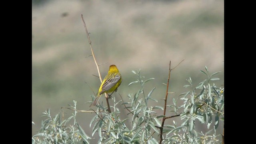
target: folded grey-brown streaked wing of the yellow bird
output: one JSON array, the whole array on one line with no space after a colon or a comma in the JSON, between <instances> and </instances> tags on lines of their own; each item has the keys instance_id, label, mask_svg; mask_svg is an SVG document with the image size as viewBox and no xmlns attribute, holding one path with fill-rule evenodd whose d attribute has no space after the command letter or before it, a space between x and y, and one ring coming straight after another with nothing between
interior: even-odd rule
<instances>
[{"instance_id":1,"label":"folded grey-brown streaked wing of the yellow bird","mask_svg":"<svg viewBox=\"0 0 256 144\"><path fill-rule=\"evenodd\" d=\"M118 80L120 80L120 78L121 78L120 74L116 74L115 76L110 76L110 78L107 79L102 85L102 91L100 92L100 94L112 88L118 82Z\"/></svg>"}]
</instances>

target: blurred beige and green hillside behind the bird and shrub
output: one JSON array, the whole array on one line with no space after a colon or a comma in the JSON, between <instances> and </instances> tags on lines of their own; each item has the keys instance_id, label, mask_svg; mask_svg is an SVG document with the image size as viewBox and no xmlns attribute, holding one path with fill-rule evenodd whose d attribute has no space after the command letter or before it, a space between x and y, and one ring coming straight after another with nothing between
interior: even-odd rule
<instances>
[{"instance_id":1,"label":"blurred beige and green hillside behind the bird and shrub","mask_svg":"<svg viewBox=\"0 0 256 144\"><path fill-rule=\"evenodd\" d=\"M92 90L100 86L90 45L85 33L84 20L102 78L111 64L122 74L123 82L113 94L116 101L128 101L129 93L135 94L139 84L132 70L141 69L145 80L155 78L145 85L148 94L164 105L168 78L168 64L172 68L168 102L177 98L192 78L194 86L206 79L199 72L208 67L210 74L221 71L215 81L224 87L224 1L223 0L32 0L32 136L41 128L42 112L50 108L52 116L72 111L61 109L77 101L78 110L89 110ZM88 57L89 56L89 57ZM106 105L104 96L100 102ZM113 100L110 100L113 104ZM120 106L121 118L127 110ZM96 107L94 107L94 110ZM159 111L159 115L163 114ZM90 120L95 114L78 113L77 121L91 136ZM169 116L174 115L171 112ZM174 120L174 119L173 119ZM129 126L129 122L127 125ZM165 124L173 124L167 120ZM207 131L206 127L200 128ZM222 133L223 122L219 124ZM97 136L97 133L94 135Z\"/></svg>"}]
</instances>

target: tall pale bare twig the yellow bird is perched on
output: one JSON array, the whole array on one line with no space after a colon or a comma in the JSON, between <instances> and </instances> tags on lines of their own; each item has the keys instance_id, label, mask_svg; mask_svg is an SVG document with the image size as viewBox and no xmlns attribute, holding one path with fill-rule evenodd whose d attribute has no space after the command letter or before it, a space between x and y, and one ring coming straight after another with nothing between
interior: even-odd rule
<instances>
[{"instance_id":1,"label":"tall pale bare twig the yellow bird is perched on","mask_svg":"<svg viewBox=\"0 0 256 144\"><path fill-rule=\"evenodd\" d=\"M83 17L83 14L81 14L81 17L82 17L82 20L84 22L84 17ZM90 40L90 36L89 36L89 33L88 33L88 30L87 30L87 27L86 27L86 24L84 22L84 28L85 28L85 31L86 31L86 34L87 34L87 38L88 38L88 41L89 41L89 44L90 44L90 48L91 48L91 51L92 51L92 56L93 56L93 59L94 59L94 62L96 64L96 67L97 67L97 70L98 70L98 74L99 74L99 78L100 78L100 82L102 82L102 78L101 78L101 75L100 75L100 69L99 69L99 65L96 61L96 58L94 56L94 52L92 50L92 42ZM109 106L109 102L108 102L108 95L105 93L105 97L106 97L106 100L107 100L107 105L108 105L108 112L111 113L111 110L110 110L110 106Z\"/></svg>"}]
</instances>

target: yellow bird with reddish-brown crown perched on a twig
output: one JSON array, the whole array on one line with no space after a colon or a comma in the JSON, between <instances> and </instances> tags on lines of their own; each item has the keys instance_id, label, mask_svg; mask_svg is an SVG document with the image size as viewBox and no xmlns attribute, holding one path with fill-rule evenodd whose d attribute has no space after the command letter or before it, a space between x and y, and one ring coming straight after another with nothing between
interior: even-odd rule
<instances>
[{"instance_id":1,"label":"yellow bird with reddish-brown crown perched on a twig","mask_svg":"<svg viewBox=\"0 0 256 144\"><path fill-rule=\"evenodd\" d=\"M111 66L109 66L108 74L105 76L104 80L100 85L97 97L90 106L95 106L103 93L112 92L113 94L114 91L117 91L117 88L121 84L121 82L121 74L119 73L117 67L114 64L112 64ZM111 94L109 96L111 96Z\"/></svg>"}]
</instances>

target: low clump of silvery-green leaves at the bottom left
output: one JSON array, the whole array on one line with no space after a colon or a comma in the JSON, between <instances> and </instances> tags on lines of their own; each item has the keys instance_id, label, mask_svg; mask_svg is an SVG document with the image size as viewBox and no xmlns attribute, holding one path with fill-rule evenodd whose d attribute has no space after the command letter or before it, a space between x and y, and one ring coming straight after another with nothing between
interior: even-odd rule
<instances>
[{"instance_id":1,"label":"low clump of silvery-green leaves at the bottom left","mask_svg":"<svg viewBox=\"0 0 256 144\"><path fill-rule=\"evenodd\" d=\"M76 101L74 106L76 110ZM42 117L46 120L42 121L42 127L38 134L32 137L32 144L88 144L91 139L76 122L76 111L66 120L61 120L60 113L54 117L50 114L50 109L43 112ZM71 120L73 125L67 126Z\"/></svg>"}]
</instances>

